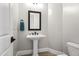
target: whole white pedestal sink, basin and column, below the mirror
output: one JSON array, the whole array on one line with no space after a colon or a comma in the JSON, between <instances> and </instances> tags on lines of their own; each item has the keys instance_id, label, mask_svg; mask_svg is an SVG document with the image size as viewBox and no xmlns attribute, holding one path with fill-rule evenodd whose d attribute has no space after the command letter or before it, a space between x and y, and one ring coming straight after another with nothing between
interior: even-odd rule
<instances>
[{"instance_id":1,"label":"whole white pedestal sink, basin and column, below the mirror","mask_svg":"<svg viewBox=\"0 0 79 59\"><path fill-rule=\"evenodd\" d=\"M43 34L27 35L27 39L33 40L33 56L38 56L38 40L46 37Z\"/></svg>"}]
</instances>

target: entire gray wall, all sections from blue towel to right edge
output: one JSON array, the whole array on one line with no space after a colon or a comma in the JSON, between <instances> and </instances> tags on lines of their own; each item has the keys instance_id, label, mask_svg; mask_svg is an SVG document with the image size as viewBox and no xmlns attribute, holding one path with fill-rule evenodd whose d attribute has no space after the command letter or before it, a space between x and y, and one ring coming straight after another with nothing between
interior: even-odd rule
<instances>
[{"instance_id":1,"label":"entire gray wall, all sections from blue towel to right edge","mask_svg":"<svg viewBox=\"0 0 79 59\"><path fill-rule=\"evenodd\" d=\"M25 31L18 28L18 51L32 49L32 41L26 39L28 35L28 10L42 12L42 30L38 31L47 35L39 40L39 48L52 48L68 53L66 43L68 41L79 43L79 4L43 4L43 9L19 4L19 21L24 19ZM19 22L18 22L19 27Z\"/></svg>"}]
</instances>

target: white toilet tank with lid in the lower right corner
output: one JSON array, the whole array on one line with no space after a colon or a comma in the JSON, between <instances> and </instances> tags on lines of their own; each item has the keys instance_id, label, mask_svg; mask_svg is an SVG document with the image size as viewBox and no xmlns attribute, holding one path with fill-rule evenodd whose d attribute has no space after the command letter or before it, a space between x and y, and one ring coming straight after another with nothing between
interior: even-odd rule
<instances>
[{"instance_id":1,"label":"white toilet tank with lid in the lower right corner","mask_svg":"<svg viewBox=\"0 0 79 59\"><path fill-rule=\"evenodd\" d=\"M67 47L70 56L79 56L79 44L67 42Z\"/></svg>"}]
</instances>

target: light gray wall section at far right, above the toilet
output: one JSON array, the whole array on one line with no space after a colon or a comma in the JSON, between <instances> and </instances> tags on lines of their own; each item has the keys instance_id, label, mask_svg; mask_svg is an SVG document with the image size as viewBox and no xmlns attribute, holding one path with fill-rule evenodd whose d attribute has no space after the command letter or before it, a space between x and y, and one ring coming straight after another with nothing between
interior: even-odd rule
<instances>
[{"instance_id":1,"label":"light gray wall section at far right, above the toilet","mask_svg":"<svg viewBox=\"0 0 79 59\"><path fill-rule=\"evenodd\" d=\"M63 4L63 51L67 42L79 43L79 4Z\"/></svg>"}]
</instances>

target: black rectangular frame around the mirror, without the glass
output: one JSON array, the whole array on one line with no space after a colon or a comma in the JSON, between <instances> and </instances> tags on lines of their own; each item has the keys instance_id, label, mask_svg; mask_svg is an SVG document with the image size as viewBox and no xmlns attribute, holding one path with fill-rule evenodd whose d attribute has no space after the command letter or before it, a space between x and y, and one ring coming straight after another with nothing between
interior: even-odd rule
<instances>
[{"instance_id":1,"label":"black rectangular frame around the mirror, without the glass","mask_svg":"<svg viewBox=\"0 0 79 59\"><path fill-rule=\"evenodd\" d=\"M30 28L30 13L39 13L39 29L31 29ZM28 11L28 30L35 31L35 30L41 30L41 12L39 11Z\"/></svg>"}]
</instances>

